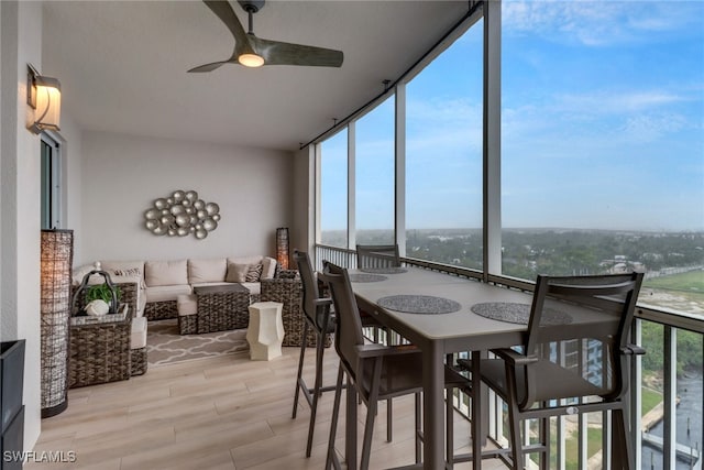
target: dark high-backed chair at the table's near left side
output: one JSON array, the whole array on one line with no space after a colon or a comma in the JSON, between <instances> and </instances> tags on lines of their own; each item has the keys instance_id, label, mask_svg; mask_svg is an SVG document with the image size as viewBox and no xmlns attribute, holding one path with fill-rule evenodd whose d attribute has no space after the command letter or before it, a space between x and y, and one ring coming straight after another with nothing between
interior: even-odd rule
<instances>
[{"instance_id":1,"label":"dark high-backed chair at the table's near left side","mask_svg":"<svg viewBox=\"0 0 704 470\"><path fill-rule=\"evenodd\" d=\"M346 270L323 261L321 278L328 285L332 295L337 314L334 347L340 358L326 469L329 469L330 466L336 469L341 467L334 449L334 439L340 414L342 383L345 375L348 393L354 390L367 408L360 469L366 470L370 468L372 436L378 401L409 394L415 395L415 457L416 463L419 463L421 459L420 441L422 439L420 427L421 352L413 345L384 346L367 343L362 331L362 319ZM453 425L451 389L457 386L466 387L466 380L451 368L446 368L446 387L450 389L446 407L447 428L449 430L447 438L449 459L452 458L452 435L450 430ZM388 422L387 427L391 426L392 423ZM349 439L351 435L356 436L356 420L354 423L345 423L345 439Z\"/></svg>"}]
</instances>

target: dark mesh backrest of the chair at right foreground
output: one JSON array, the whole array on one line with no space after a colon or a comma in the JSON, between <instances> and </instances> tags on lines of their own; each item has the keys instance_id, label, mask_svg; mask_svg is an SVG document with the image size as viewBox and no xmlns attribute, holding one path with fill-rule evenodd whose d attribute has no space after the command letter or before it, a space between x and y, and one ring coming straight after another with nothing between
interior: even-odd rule
<instances>
[{"instance_id":1,"label":"dark mesh backrest of the chair at right foreground","mask_svg":"<svg viewBox=\"0 0 704 470\"><path fill-rule=\"evenodd\" d=\"M626 382L622 348L628 343L636 300L642 283L642 273L605 274L592 276L542 276L536 282L525 353L550 358L550 361L580 375L601 390L605 398L620 396ZM569 305L564 305L566 303ZM554 315L581 306L591 315L603 316L603 323L588 328L554 327ZM576 335L575 335L576 331ZM576 341L576 343L575 343ZM557 345L569 345L582 354L581 361L560 363ZM575 346L576 345L576 346ZM539 367L539 365L536 365ZM553 384L544 374L538 380L535 369L526 368L527 400L548 400ZM584 381L574 381L574 395L582 396ZM542 382L542 383L541 383ZM569 385L568 385L569 389ZM525 403L528 405L528 403Z\"/></svg>"}]
</instances>

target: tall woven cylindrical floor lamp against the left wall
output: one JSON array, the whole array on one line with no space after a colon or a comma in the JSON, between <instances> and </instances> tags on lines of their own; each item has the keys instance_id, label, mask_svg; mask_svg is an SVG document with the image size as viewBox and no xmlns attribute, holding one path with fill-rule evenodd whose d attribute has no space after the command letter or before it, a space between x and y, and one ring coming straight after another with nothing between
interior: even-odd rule
<instances>
[{"instance_id":1,"label":"tall woven cylindrical floor lamp against the left wall","mask_svg":"<svg viewBox=\"0 0 704 470\"><path fill-rule=\"evenodd\" d=\"M68 323L70 270L74 261L73 230L42 230L42 417L68 406Z\"/></svg>"}]
</instances>

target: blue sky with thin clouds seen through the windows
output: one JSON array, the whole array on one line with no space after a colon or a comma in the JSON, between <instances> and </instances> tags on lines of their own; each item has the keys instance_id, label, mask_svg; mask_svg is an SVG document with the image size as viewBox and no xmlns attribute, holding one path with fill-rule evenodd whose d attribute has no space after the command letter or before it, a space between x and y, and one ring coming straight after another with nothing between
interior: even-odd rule
<instances>
[{"instance_id":1,"label":"blue sky with thin clouds seen through the windows","mask_svg":"<svg viewBox=\"0 0 704 470\"><path fill-rule=\"evenodd\" d=\"M503 226L704 230L704 2L505 1L502 15ZM481 227L481 41L477 23L407 87L408 228ZM393 147L387 102L358 123L360 229L393 227ZM344 175L324 165L340 181L322 228L343 228L324 201L343 200Z\"/></svg>"}]
</instances>

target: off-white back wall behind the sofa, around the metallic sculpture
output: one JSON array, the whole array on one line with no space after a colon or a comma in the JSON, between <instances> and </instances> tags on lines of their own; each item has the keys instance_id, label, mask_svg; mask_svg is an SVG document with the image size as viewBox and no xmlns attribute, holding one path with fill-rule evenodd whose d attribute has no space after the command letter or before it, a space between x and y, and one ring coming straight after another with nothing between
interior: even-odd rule
<instances>
[{"instance_id":1,"label":"off-white back wall behind the sofa, around the metallic sculpture","mask_svg":"<svg viewBox=\"0 0 704 470\"><path fill-rule=\"evenodd\" d=\"M289 152L84 131L80 227L74 264L274 254L275 230L293 221ZM220 206L204 240L156 237L144 228L154 199L197 190ZM69 227L70 228L70 227Z\"/></svg>"}]
</instances>

